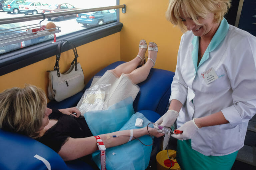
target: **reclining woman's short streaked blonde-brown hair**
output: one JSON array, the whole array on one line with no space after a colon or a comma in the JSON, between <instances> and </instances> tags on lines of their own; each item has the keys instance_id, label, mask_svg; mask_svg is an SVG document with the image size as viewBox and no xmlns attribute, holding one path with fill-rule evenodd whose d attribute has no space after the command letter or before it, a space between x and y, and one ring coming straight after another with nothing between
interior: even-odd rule
<instances>
[{"instance_id":1,"label":"reclining woman's short streaked blonde-brown hair","mask_svg":"<svg viewBox=\"0 0 256 170\"><path fill-rule=\"evenodd\" d=\"M0 128L38 137L46 102L44 91L33 85L3 91L0 93Z\"/></svg>"}]
</instances>

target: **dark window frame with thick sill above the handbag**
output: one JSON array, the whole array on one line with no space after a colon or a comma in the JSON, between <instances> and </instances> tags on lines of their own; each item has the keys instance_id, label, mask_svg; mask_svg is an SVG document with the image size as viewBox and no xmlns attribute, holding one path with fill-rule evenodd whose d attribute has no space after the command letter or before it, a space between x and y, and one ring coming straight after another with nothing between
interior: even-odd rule
<instances>
[{"instance_id":1,"label":"dark window frame with thick sill above the handbag","mask_svg":"<svg viewBox=\"0 0 256 170\"><path fill-rule=\"evenodd\" d=\"M117 5L119 5L119 0L117 0ZM119 9L116 10L116 22L111 22L57 37L56 43L52 43L53 40L47 40L45 42L1 54L0 76L55 56L57 45L62 40L73 42L74 45L78 47L100 38L104 38L108 35L120 32L123 24L119 22ZM62 52L68 51L70 49L70 47L65 48Z\"/></svg>"}]
</instances>

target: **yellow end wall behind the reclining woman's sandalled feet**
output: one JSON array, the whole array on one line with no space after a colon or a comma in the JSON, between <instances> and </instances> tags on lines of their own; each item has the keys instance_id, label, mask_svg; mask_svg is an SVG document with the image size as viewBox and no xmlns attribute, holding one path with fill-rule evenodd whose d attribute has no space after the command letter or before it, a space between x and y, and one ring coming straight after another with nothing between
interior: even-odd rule
<instances>
[{"instance_id":1,"label":"yellow end wall behind the reclining woman's sandalled feet","mask_svg":"<svg viewBox=\"0 0 256 170\"><path fill-rule=\"evenodd\" d=\"M175 71L182 32L165 18L168 0L120 0L126 4L126 13L120 10L121 60L129 61L138 53L141 39L158 45L155 68ZM147 55L147 53L146 53Z\"/></svg>"}]
</instances>

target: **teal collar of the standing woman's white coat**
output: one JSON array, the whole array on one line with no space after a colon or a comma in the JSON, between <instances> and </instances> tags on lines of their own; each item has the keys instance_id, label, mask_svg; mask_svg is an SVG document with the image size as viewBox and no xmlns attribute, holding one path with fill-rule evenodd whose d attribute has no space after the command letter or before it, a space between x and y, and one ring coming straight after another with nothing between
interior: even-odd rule
<instances>
[{"instance_id":1,"label":"teal collar of the standing woman's white coat","mask_svg":"<svg viewBox=\"0 0 256 170\"><path fill-rule=\"evenodd\" d=\"M222 40L225 38L227 32L229 29L229 24L227 22L227 20L225 18L223 18L223 20L220 23L220 26L218 28L218 30L216 31L216 33L214 34L210 44L208 45L198 67L203 64L203 62L205 62L208 58L209 58L209 53L213 50L215 50L218 45L222 42ZM197 72L197 60L198 60L198 49L199 49L199 37L194 36L193 40L191 41L194 49L192 51L192 60L193 60L193 64L195 67L195 71Z\"/></svg>"}]
</instances>

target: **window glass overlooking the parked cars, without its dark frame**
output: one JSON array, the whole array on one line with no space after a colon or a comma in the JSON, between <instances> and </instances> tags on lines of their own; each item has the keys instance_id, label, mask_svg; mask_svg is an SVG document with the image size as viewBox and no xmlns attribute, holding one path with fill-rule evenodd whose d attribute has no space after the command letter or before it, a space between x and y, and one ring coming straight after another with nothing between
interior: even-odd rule
<instances>
[{"instance_id":1,"label":"window glass overlooking the parked cars, without its dark frame","mask_svg":"<svg viewBox=\"0 0 256 170\"><path fill-rule=\"evenodd\" d=\"M13 2L13 0L8 0L7 2ZM17 4L22 4L23 1L21 0L17 0L16 3ZM49 6L47 6L48 4L47 3L44 3L43 5L46 6L46 7L37 7L36 10L37 12L35 12L34 14L37 14L37 13L53 13L53 12L61 12L61 11L67 11L67 10L76 10L76 9L88 9L88 8L96 8L96 7L102 7L102 6L113 6L113 5L116 5L116 0L108 0L107 2L105 2L105 0L95 0L95 1L91 1L90 3L88 3L87 1L86 2L81 2L80 0L73 0L72 1L72 4L69 4L69 3L63 3L63 4L57 4L57 3L52 3L52 1L50 0L45 0L45 2L49 2ZM61 1L63 2L63 1ZM30 6L42 6L40 2L25 2L23 5L30 5ZM79 8L78 8L79 7ZM26 8L26 7L25 7ZM21 10L21 9L20 9ZM22 9L22 12L23 10L26 10L26 9ZM32 10L35 10L35 8L31 8L31 9L28 9L27 12L29 13L29 10L30 10L30 13L32 13ZM18 14L15 15L15 17L20 17L20 16L23 16L24 14L27 15L28 13L22 13L22 12L19 12ZM108 10L105 11L106 13L109 13ZM104 13L104 11L102 12ZM112 10L112 13L113 10ZM8 15L8 13L6 12L1 12L0 13L0 18L11 18L13 17L12 15ZM56 34L56 37L58 39L58 37L60 36L63 36L63 35L66 35L66 34L69 34L69 33L72 33L72 32L75 32L75 31L79 31L79 30L84 30L84 29L87 29L87 28L91 28L91 27L94 27L94 26L97 26L97 25L101 25L101 24L104 24L104 23L109 23L111 22L109 19L107 21L103 21L103 22L100 22L100 23L96 23L96 21L92 22L92 23L79 23L77 20L77 15L68 15L68 16L62 16L62 17L55 17L55 18L48 18L48 19L45 19L43 22L41 22L42 25L46 25L48 22L53 22L57 27L60 27L60 30L61 32ZM112 21L116 21L116 14L115 16L112 17ZM0 37L3 36L3 35L11 35L11 34L17 34L20 32L26 32L27 29L24 29L25 27L24 26L27 26L27 25L33 25L33 24L38 24L40 22L40 20L35 20L35 21L26 21L26 22L19 22L19 23L14 23L14 24L4 24L4 25L0 25ZM15 27L14 27L15 26ZM7 28L10 28L10 33L5 33L6 31L2 31L3 29L7 29ZM19 28L19 29L16 29L16 27L24 27L24 28ZM30 27L33 27L33 26L30 26ZM21 30L21 29L24 29L24 30ZM42 41L46 41L46 40L50 40L50 39L53 39L53 35L51 36L46 36L46 37L41 37L41 38L37 38L37 39L33 39L31 41L25 41L25 43L15 43L15 44L12 44L12 45L9 45L9 47L7 46L1 46L0 45L0 55L1 54L4 54L4 53L7 53L7 52L10 52L10 51L13 51L15 49L20 49L20 48L24 48L24 47L27 47L29 45L33 45L33 44L36 44L36 43L40 43Z\"/></svg>"}]
</instances>

